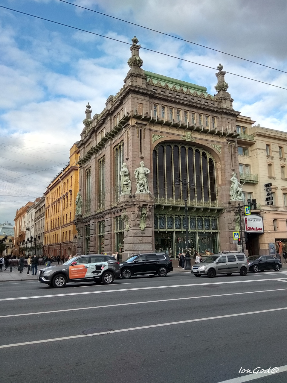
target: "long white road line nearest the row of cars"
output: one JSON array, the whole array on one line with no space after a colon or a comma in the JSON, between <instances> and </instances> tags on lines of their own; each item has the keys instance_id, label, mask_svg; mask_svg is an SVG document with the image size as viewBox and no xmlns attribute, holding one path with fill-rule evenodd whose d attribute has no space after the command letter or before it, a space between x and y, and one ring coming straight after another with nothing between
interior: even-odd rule
<instances>
[{"instance_id":1,"label":"long white road line nearest the row of cars","mask_svg":"<svg viewBox=\"0 0 287 383\"><path fill-rule=\"evenodd\" d=\"M190 283L188 285L152 286L152 287L126 288L126 289L117 289L117 290L84 291L82 293L20 296L20 297L17 297L17 298L1 298L0 301L16 301L16 300L36 299L36 298L41 298L41 299L42 298L56 298L56 297L59 297L59 296L74 296L74 295L86 295L86 294L113 293L115 291L118 292L118 291L155 290L155 289L159 289L159 288L175 288L175 287L205 286L205 285L225 285L225 284L228 284L228 283L249 283L249 282L266 282L266 281L276 281L276 278L257 279L257 280L251 279L251 280L229 281L229 282Z\"/></svg>"}]
</instances>

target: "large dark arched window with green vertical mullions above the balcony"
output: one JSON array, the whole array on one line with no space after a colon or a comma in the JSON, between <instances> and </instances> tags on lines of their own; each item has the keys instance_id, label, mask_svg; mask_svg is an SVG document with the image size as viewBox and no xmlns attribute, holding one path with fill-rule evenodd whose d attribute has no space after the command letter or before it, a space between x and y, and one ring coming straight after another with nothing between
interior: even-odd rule
<instances>
[{"instance_id":1,"label":"large dark arched window with green vertical mullions above the balcony","mask_svg":"<svg viewBox=\"0 0 287 383\"><path fill-rule=\"evenodd\" d=\"M195 186L188 188L187 199L209 204L216 201L214 160L209 152L180 144L161 144L153 151L153 193L155 198L184 200L185 190L181 180L191 180Z\"/></svg>"}]
</instances>

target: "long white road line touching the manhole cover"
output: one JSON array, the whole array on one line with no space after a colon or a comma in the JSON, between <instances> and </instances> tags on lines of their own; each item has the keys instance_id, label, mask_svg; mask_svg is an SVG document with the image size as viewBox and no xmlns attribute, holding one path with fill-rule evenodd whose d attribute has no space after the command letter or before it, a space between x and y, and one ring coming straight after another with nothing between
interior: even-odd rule
<instances>
[{"instance_id":1,"label":"long white road line touching the manhole cover","mask_svg":"<svg viewBox=\"0 0 287 383\"><path fill-rule=\"evenodd\" d=\"M0 349L6 349L7 347L23 346L23 345L28 345L28 344L55 342L57 340L77 339L77 338L84 338L84 337L88 337L88 336L96 336L96 335L103 335L103 334L114 334L116 332L127 332L127 331L143 330L143 329L152 329L152 328L155 328L155 327L173 326L173 325L176 325L176 324L210 321L212 319L233 318L235 316L271 313L272 311L282 311L282 310L287 310L287 307L280 307L280 308L277 308L277 309L268 309L268 310L260 310L260 311L249 311L248 313L229 314L229 315L220 315L220 316L210 316L210 317L207 317L207 318L188 319L187 321L177 321L177 322L168 322L168 323L160 323L160 324L151 324L149 326L130 327L130 328L127 328L127 329L111 330L111 331L105 331L105 332L96 332L95 334L88 334L88 335L73 335L73 336L67 336L67 337L62 337L62 338L34 340L32 342L3 344L3 345L0 345Z\"/></svg>"}]
</instances>

